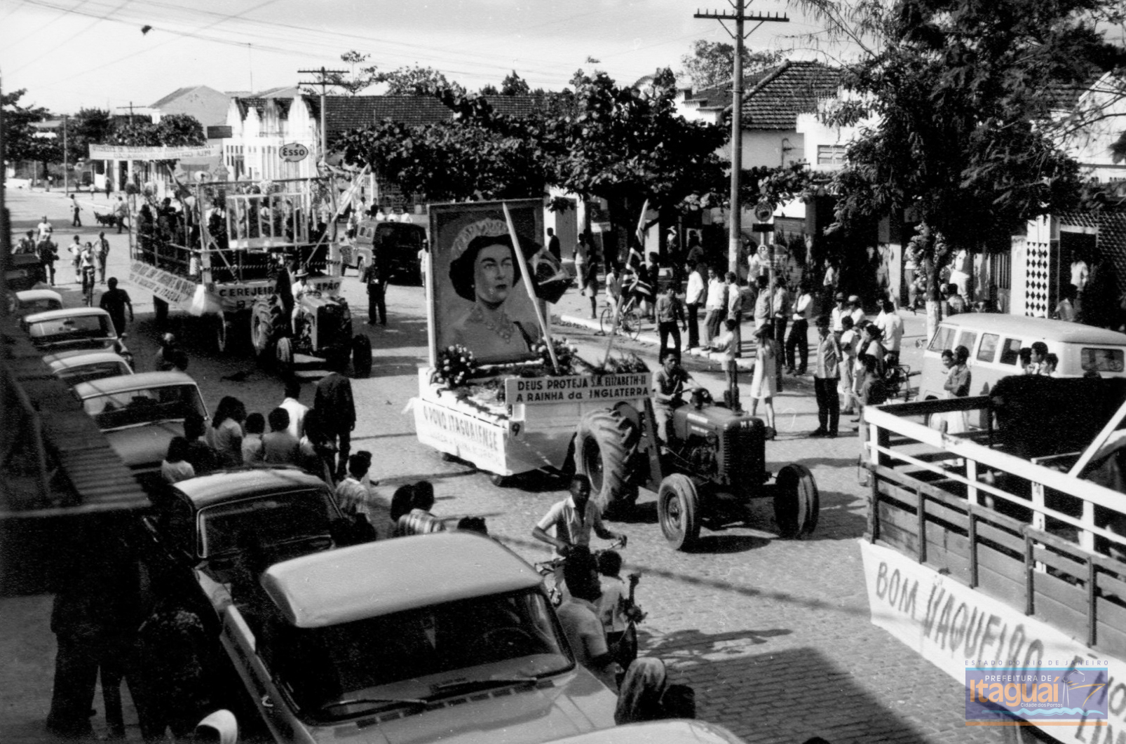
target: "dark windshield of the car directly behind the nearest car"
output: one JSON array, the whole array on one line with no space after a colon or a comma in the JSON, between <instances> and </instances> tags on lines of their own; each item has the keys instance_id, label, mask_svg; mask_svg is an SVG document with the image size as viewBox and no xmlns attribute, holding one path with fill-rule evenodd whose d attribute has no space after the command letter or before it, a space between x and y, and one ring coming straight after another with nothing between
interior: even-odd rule
<instances>
[{"instance_id":1,"label":"dark windshield of the car directly behind the nearest car","mask_svg":"<svg viewBox=\"0 0 1126 744\"><path fill-rule=\"evenodd\" d=\"M276 561L294 557L289 553L300 555L303 550L285 550L285 545L330 539L329 525L336 517L327 490L291 491L207 507L199 511L199 557L238 550L247 535L268 546Z\"/></svg>"}]
</instances>

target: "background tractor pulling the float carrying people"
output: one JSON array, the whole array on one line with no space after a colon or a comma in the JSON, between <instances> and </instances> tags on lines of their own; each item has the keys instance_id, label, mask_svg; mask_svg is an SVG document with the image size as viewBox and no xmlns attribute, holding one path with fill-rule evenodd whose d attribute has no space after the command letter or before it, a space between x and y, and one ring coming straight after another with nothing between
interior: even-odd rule
<instances>
[{"instance_id":1,"label":"background tractor pulling the float carrying people","mask_svg":"<svg viewBox=\"0 0 1126 744\"><path fill-rule=\"evenodd\" d=\"M367 377L372 371L372 342L366 335L352 335L348 301L336 294L306 290L296 301L288 287L254 299L250 312L250 340L254 356L263 364L276 365L283 375L298 366L323 366L328 361L352 360L352 374Z\"/></svg>"}]
</instances>

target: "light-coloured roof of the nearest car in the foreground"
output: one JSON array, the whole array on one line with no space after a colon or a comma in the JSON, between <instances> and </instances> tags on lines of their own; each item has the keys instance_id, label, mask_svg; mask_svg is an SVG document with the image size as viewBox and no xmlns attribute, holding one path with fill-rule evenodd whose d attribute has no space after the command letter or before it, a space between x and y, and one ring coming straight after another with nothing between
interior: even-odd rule
<instances>
[{"instance_id":1,"label":"light-coloured roof of the nearest car in the foreground","mask_svg":"<svg viewBox=\"0 0 1126 744\"><path fill-rule=\"evenodd\" d=\"M275 564L262 586L298 628L319 628L538 586L530 565L472 532L365 543Z\"/></svg>"}]
</instances>

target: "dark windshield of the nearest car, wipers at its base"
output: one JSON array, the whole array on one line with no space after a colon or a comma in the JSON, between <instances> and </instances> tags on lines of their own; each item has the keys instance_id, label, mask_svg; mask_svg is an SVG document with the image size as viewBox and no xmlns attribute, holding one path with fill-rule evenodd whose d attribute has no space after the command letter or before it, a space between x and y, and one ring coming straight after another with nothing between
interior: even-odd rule
<instances>
[{"instance_id":1,"label":"dark windshield of the nearest car, wipers at its base","mask_svg":"<svg viewBox=\"0 0 1126 744\"><path fill-rule=\"evenodd\" d=\"M572 665L536 589L320 628L277 625L282 631L267 634L259 648L303 716L321 720L480 692Z\"/></svg>"}]
</instances>

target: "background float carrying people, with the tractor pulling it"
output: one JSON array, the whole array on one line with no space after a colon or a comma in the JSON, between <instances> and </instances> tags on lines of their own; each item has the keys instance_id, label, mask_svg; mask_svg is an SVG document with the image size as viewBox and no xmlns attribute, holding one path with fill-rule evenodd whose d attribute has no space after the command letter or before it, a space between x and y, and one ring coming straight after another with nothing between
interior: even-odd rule
<instances>
[{"instance_id":1,"label":"background float carrying people, with the tractor pulling it","mask_svg":"<svg viewBox=\"0 0 1126 744\"><path fill-rule=\"evenodd\" d=\"M285 374L352 357L370 369L340 296L337 189L331 179L179 185L177 205L144 196L129 280L199 319L218 351L253 353ZM303 279L294 292L297 279Z\"/></svg>"}]
</instances>

